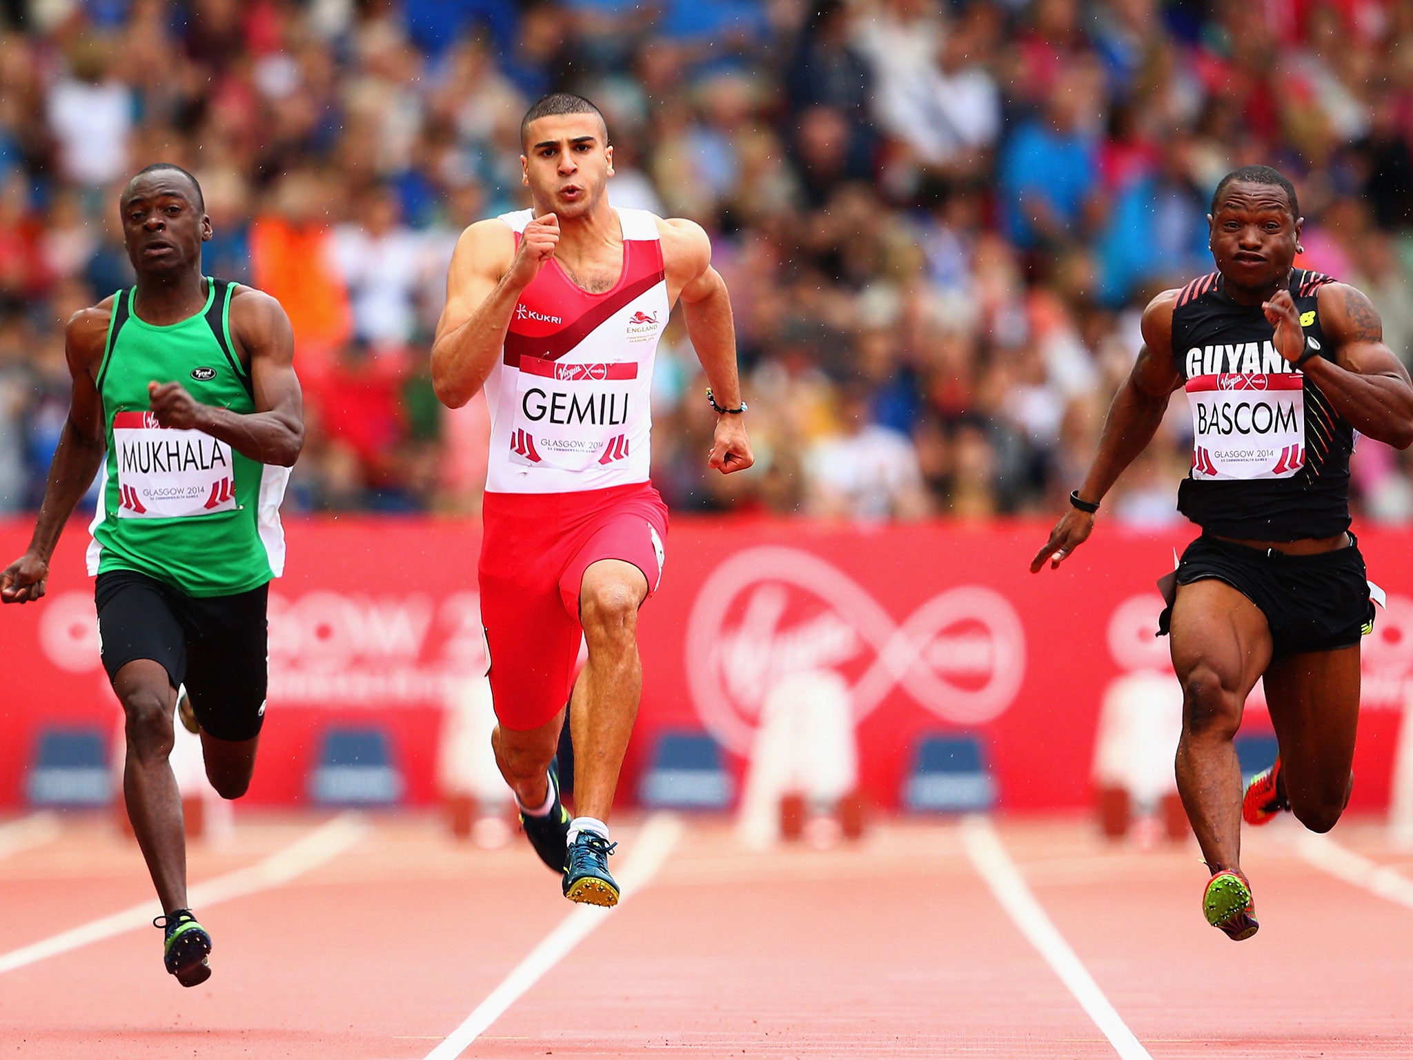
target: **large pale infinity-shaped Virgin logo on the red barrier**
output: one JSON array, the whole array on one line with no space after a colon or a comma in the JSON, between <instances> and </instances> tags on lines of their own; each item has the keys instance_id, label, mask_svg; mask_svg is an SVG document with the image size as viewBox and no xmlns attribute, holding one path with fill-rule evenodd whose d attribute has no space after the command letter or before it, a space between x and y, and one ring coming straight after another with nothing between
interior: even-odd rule
<instances>
[{"instance_id":1,"label":"large pale infinity-shaped Virgin logo on the red barrier","mask_svg":"<svg viewBox=\"0 0 1413 1060\"><path fill-rule=\"evenodd\" d=\"M766 697L803 670L844 676L856 721L903 691L964 725L1010 707L1026 670L1024 629L999 592L950 588L899 622L834 564L779 546L747 548L712 571L685 644L697 712L740 753Z\"/></svg>"}]
</instances>

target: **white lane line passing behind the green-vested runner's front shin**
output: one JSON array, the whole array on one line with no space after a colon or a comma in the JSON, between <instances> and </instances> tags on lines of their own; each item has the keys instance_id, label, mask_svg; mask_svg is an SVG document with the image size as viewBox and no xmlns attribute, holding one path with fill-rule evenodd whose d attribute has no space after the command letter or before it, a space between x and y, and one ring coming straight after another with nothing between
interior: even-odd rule
<instances>
[{"instance_id":1,"label":"white lane line passing behind the green-vested runner's front shin","mask_svg":"<svg viewBox=\"0 0 1413 1060\"><path fill-rule=\"evenodd\" d=\"M254 865L208 879L205 883L198 883L187 892L187 900L191 902L192 909L201 910L209 909L219 902L253 895L257 890L278 888L295 876L301 876L332 861L359 842L367 831L367 824L356 814L339 814L308 835L301 837ZM86 924L71 927L68 931L41 938L38 943L0 954L0 972L14 971L27 964L42 961L47 957L57 957L58 954L134 931L138 927L146 927L161 912L161 906L153 899L119 913L90 920Z\"/></svg>"}]
</instances>

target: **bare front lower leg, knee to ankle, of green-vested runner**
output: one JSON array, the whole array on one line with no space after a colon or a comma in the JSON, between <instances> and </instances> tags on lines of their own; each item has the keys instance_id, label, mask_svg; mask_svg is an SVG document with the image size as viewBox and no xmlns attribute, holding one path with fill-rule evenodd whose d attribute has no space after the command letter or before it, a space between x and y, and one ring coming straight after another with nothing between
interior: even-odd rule
<instances>
[{"instance_id":1,"label":"bare front lower leg, knee to ankle, of green-vested runner","mask_svg":"<svg viewBox=\"0 0 1413 1060\"><path fill-rule=\"evenodd\" d=\"M168 755L177 690L167 669L150 659L124 664L113 677L123 704L127 753L123 759L123 801L133 834L147 861L162 909L187 907L187 841L181 793Z\"/></svg>"}]
</instances>

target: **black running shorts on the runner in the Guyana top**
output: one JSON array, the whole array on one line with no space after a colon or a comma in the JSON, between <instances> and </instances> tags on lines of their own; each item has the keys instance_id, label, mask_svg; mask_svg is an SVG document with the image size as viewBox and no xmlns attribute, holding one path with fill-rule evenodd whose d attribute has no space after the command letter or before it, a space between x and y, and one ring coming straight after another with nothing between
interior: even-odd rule
<instances>
[{"instance_id":1,"label":"black running shorts on the runner in the Guyana top","mask_svg":"<svg viewBox=\"0 0 1413 1060\"><path fill-rule=\"evenodd\" d=\"M1334 652L1373 630L1373 602L1364 555L1354 534L1349 547L1316 555L1248 548L1207 534L1183 553L1177 584L1215 578L1260 608L1275 642L1273 659L1300 652ZM1173 608L1159 618L1167 633Z\"/></svg>"}]
</instances>

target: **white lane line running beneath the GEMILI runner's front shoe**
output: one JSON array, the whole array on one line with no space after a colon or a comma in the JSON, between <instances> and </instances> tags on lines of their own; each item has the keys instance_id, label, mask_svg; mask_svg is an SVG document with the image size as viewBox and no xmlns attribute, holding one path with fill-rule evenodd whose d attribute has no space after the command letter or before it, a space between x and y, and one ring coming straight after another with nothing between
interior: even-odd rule
<instances>
[{"instance_id":1,"label":"white lane line running beneath the GEMILI runner's front shoe","mask_svg":"<svg viewBox=\"0 0 1413 1060\"><path fill-rule=\"evenodd\" d=\"M620 897L615 909L622 909L625 902L647 886L649 881L663 868L663 864L677 847L681 835L682 823L673 814L653 814L643 823L643 828L633 840L633 847L627 861L623 864L623 871L615 873L620 886ZM451 1032L447 1040L427 1054L425 1060L454 1060L461 1056L466 1046L480 1037L492 1023L504 1015L506 1009L514 1005L526 991L534 987L547 971L564 960L575 946L582 943L612 913L613 909L575 906L574 912L564 917L500 981L500 985L486 995L486 999L466 1016L466 1020Z\"/></svg>"}]
</instances>

